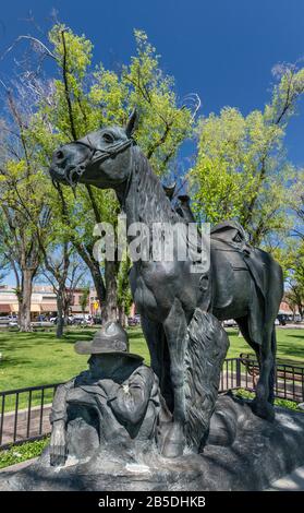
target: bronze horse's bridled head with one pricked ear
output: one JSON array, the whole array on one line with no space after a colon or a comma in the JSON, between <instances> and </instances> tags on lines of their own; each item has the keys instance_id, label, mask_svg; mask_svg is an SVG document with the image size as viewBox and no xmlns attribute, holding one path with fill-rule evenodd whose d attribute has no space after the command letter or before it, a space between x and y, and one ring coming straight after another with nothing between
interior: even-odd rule
<instances>
[{"instance_id":1,"label":"bronze horse's bridled head with one pricked ear","mask_svg":"<svg viewBox=\"0 0 304 513\"><path fill-rule=\"evenodd\" d=\"M52 180L72 187L81 182L117 189L130 175L135 122L134 109L125 129L104 128L60 146L52 157Z\"/></svg>"}]
</instances>

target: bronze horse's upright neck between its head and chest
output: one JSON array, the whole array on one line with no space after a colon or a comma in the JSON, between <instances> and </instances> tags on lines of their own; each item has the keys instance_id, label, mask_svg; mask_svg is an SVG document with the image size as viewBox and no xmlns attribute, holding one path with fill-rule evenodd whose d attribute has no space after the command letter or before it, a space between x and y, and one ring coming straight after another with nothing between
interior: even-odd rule
<instances>
[{"instance_id":1,"label":"bronze horse's upright neck between its head and chest","mask_svg":"<svg viewBox=\"0 0 304 513\"><path fill-rule=\"evenodd\" d=\"M125 187L123 208L129 226L132 223L150 226L153 223L177 222L177 213L166 196L159 179L137 147L133 148L132 171Z\"/></svg>"}]
</instances>

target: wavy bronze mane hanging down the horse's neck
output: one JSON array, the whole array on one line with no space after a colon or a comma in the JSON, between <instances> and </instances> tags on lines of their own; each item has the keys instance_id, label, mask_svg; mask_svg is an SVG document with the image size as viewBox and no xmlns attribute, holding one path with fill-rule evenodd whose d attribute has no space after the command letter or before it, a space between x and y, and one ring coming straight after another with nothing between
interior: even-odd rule
<instances>
[{"instance_id":1,"label":"wavy bronze mane hanging down the horse's neck","mask_svg":"<svg viewBox=\"0 0 304 513\"><path fill-rule=\"evenodd\" d=\"M183 223L166 195L159 178L155 175L147 157L133 147L133 175L136 184L137 210L143 222Z\"/></svg>"}]
</instances>

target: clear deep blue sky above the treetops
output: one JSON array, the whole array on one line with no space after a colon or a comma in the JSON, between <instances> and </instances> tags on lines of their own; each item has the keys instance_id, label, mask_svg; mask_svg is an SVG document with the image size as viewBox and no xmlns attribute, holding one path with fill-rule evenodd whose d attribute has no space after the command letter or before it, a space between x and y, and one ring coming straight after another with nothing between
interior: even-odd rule
<instances>
[{"instance_id":1,"label":"clear deep blue sky above the treetops","mask_svg":"<svg viewBox=\"0 0 304 513\"><path fill-rule=\"evenodd\" d=\"M83 5L83 8L81 7ZM133 28L143 28L175 77L182 97L198 93L202 114L226 105L243 114L269 98L271 68L304 56L303 0L13 0L2 2L0 51L20 34L34 33L32 11L47 31L52 9L95 46L96 61L111 67L134 52ZM0 62L0 77L10 73ZM288 131L289 157L304 165L304 102Z\"/></svg>"}]
</instances>

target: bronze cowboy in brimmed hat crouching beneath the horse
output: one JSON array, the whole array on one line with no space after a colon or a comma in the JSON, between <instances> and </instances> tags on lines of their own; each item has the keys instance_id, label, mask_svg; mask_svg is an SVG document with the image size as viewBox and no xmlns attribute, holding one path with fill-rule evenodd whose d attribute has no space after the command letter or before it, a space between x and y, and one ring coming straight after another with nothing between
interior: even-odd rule
<instances>
[{"instance_id":1,"label":"bronze cowboy in brimmed hat crouching beneath the horse","mask_svg":"<svg viewBox=\"0 0 304 513\"><path fill-rule=\"evenodd\" d=\"M129 353L127 334L108 322L93 342L77 342L80 355L90 355L89 369L60 385L52 404L50 463L66 456L83 460L98 448L120 453L148 443L161 444L161 427L171 420L160 395L158 378Z\"/></svg>"}]
</instances>

